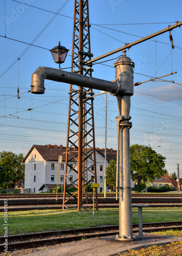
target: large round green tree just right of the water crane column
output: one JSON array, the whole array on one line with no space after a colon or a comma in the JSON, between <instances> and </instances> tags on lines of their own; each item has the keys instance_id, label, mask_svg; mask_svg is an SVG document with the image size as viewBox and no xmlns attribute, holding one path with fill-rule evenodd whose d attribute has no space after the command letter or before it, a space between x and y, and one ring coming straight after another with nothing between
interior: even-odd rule
<instances>
[{"instance_id":1,"label":"large round green tree just right of the water crane column","mask_svg":"<svg viewBox=\"0 0 182 256\"><path fill-rule=\"evenodd\" d=\"M131 176L137 182L137 191L140 184L153 182L164 174L165 157L157 154L151 147L134 144L130 148Z\"/></svg>"}]
</instances>

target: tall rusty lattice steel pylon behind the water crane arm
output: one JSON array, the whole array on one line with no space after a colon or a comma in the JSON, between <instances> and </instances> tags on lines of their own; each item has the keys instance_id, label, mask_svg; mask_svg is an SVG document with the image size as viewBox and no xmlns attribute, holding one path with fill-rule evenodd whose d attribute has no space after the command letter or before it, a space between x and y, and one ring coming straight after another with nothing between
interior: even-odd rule
<instances>
[{"instance_id":1,"label":"tall rusty lattice steel pylon behind the water crane arm","mask_svg":"<svg viewBox=\"0 0 182 256\"><path fill-rule=\"evenodd\" d=\"M88 0L75 0L71 72L92 76L92 65L86 66L92 56ZM97 182L93 98L90 96L93 96L92 89L70 84L63 209L69 207L69 200L73 198L77 200L77 210L85 209L87 199L93 196L86 187ZM75 166L71 161L75 161ZM73 179L70 172L74 173ZM69 192L71 185L77 188L76 192ZM98 208L97 193L95 204Z\"/></svg>"}]
</instances>

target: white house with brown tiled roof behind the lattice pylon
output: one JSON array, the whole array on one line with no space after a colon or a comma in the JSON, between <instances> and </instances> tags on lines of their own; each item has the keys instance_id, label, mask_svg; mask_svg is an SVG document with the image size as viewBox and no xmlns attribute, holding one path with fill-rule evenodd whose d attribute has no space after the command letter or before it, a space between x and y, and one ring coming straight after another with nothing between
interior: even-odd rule
<instances>
[{"instance_id":1,"label":"white house with brown tiled roof behind the lattice pylon","mask_svg":"<svg viewBox=\"0 0 182 256\"><path fill-rule=\"evenodd\" d=\"M75 148L76 151L76 148ZM25 191L31 193L46 192L53 188L58 183L59 186L64 184L65 175L65 155L66 147L63 145L33 145L27 156L23 159L25 163ZM63 154L63 160L60 164L59 178L58 178L58 158ZM74 154L74 150L73 150ZM75 152L75 155L77 153ZM116 160L116 150L107 149L107 164L111 159ZM69 161L69 159L68 159ZM75 161L69 162L71 166L75 166ZM76 167L75 167L76 168ZM96 148L96 173L97 183L100 188L98 191L102 192L104 188L104 170L105 170L105 150ZM69 174L70 180L76 180L76 173L71 171ZM89 176L90 175L90 176ZM90 180L91 174L88 173L87 180ZM68 182L69 184L69 182ZM133 186L133 185L132 185Z\"/></svg>"}]
</instances>

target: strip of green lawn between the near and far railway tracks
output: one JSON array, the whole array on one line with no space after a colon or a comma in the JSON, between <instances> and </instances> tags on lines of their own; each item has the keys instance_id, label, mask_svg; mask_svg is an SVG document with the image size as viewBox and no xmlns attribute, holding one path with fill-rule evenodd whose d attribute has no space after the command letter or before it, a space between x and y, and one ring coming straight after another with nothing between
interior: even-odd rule
<instances>
[{"instance_id":1,"label":"strip of green lawn between the near and far railway tracks","mask_svg":"<svg viewBox=\"0 0 182 256\"><path fill-rule=\"evenodd\" d=\"M138 208L133 208L133 223L138 223ZM41 232L48 230L118 225L119 210L116 208L92 210L30 210L8 212L8 234ZM0 212L0 236L4 236L4 212ZM182 219L181 208L143 208L143 223L177 221Z\"/></svg>"}]
</instances>

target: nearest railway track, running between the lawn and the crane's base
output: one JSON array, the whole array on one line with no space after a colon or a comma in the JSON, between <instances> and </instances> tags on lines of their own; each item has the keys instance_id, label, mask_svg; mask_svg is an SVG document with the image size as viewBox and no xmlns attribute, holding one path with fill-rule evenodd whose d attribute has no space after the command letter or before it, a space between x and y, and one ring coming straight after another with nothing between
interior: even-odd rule
<instances>
[{"instance_id":1,"label":"nearest railway track, running between the lawn and the crane's base","mask_svg":"<svg viewBox=\"0 0 182 256\"><path fill-rule=\"evenodd\" d=\"M81 229L69 229L48 231L30 234L20 234L8 237L8 250L19 250L22 248L33 248L40 246L55 245L88 238L113 236L119 233L119 226L103 226ZM143 223L144 232L154 232L165 229L182 230L182 221ZM138 232L138 224L133 224L133 232ZM54 238L53 238L54 237ZM28 241L29 240L29 241ZM5 238L0 237L0 251L4 251Z\"/></svg>"}]
</instances>

